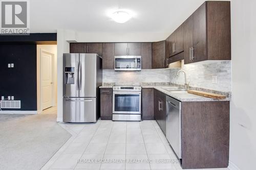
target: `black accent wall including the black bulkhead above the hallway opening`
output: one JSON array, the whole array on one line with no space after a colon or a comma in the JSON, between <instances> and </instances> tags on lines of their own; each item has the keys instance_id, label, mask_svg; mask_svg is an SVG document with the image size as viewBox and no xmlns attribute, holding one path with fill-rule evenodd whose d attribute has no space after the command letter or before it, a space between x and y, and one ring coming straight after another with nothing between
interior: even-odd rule
<instances>
[{"instance_id":1,"label":"black accent wall including the black bulkhead above the hallway opening","mask_svg":"<svg viewBox=\"0 0 256 170\"><path fill-rule=\"evenodd\" d=\"M57 33L0 34L0 100L13 95L21 106L2 110L37 110L36 44L57 44Z\"/></svg>"}]
</instances>

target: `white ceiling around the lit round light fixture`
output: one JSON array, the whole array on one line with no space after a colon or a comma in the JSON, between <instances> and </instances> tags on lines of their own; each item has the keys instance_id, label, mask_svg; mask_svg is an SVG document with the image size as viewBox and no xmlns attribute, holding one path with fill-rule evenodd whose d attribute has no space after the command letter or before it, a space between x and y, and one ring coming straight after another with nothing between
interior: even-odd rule
<instances>
[{"instance_id":1,"label":"white ceiling around the lit round light fixture","mask_svg":"<svg viewBox=\"0 0 256 170\"><path fill-rule=\"evenodd\" d=\"M171 33L204 0L31 0L32 33L57 29L88 33ZM134 17L116 23L113 10L131 11Z\"/></svg>"}]
</instances>

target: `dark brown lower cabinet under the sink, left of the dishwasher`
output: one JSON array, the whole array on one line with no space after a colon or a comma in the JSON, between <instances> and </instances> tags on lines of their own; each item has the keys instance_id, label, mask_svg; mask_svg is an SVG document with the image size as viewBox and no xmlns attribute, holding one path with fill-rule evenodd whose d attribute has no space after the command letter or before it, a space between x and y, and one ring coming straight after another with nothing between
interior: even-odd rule
<instances>
[{"instance_id":1,"label":"dark brown lower cabinet under the sink, left of the dishwasher","mask_svg":"<svg viewBox=\"0 0 256 170\"><path fill-rule=\"evenodd\" d=\"M154 89L154 115L155 119L163 131L166 133L166 104L165 94Z\"/></svg>"}]
</instances>

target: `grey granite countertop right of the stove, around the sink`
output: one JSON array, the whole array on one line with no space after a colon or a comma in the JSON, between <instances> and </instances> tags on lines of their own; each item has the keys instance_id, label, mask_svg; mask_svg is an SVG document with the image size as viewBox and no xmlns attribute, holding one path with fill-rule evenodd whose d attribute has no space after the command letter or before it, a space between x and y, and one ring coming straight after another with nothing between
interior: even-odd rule
<instances>
[{"instance_id":1,"label":"grey granite countertop right of the stove, around the sink","mask_svg":"<svg viewBox=\"0 0 256 170\"><path fill-rule=\"evenodd\" d=\"M191 94L186 91L170 92L170 91L163 89L162 87L177 87L177 86L172 86L172 85L169 85L169 86L152 86L152 85L142 86L142 88L155 88L158 91L161 91L161 92L165 93L166 95L169 95L172 98L175 98L181 102L230 101L229 95L225 99L220 100L220 99L206 98L204 96Z\"/></svg>"}]
</instances>

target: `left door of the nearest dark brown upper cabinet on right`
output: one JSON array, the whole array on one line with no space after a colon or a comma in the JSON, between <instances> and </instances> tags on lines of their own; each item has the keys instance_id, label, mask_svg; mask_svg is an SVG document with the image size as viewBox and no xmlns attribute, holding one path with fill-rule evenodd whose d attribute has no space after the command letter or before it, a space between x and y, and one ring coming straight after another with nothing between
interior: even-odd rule
<instances>
[{"instance_id":1,"label":"left door of the nearest dark brown upper cabinet on right","mask_svg":"<svg viewBox=\"0 0 256 170\"><path fill-rule=\"evenodd\" d=\"M191 48L193 46L193 15L184 22L184 64L193 62L191 60Z\"/></svg>"}]
</instances>

